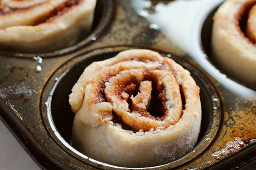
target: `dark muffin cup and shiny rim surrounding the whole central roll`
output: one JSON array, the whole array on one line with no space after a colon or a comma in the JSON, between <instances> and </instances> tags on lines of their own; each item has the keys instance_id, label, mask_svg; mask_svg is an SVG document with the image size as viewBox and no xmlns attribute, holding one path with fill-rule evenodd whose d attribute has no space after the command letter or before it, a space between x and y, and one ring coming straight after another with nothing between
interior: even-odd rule
<instances>
[{"instance_id":1,"label":"dark muffin cup and shiny rim surrounding the whole central roll","mask_svg":"<svg viewBox=\"0 0 256 170\"><path fill-rule=\"evenodd\" d=\"M41 116L42 120L44 121L44 125L46 126L46 130L49 131L49 134L54 139L55 144L60 145L62 150L64 150L66 153L69 153L71 157L79 159L79 161L84 162L90 167L101 167L104 169L126 168L109 165L104 162L89 158L85 154L80 153L74 147L72 147L70 140L74 113L71 111L71 108L68 108L70 106L67 106L69 105L68 95L71 93L71 88L73 87L79 76L82 74L84 68L88 66L91 62L114 57L117 53L126 49L130 49L130 47L119 46L95 49L85 54L74 57L73 59L60 66L60 68L58 68L55 73L53 73L42 92ZM160 52L160 54L162 56L170 56L170 54L167 55L167 53ZM177 159L176 161L155 167L143 167L143 169L168 169L177 167L184 164L185 162L194 159L196 156L202 153L207 148L207 146L209 146L209 144L212 142L215 135L217 134L218 127L220 125L221 100L219 94L217 93L215 85L202 71L200 71L195 65L185 60L184 58L179 56L171 56L171 59L173 59L176 63L182 65L185 69L189 70L197 85L201 89L200 97L202 105L202 121L198 142L193 150L188 152L182 158ZM59 99L61 99L61 101L57 101ZM63 108L63 105L66 106ZM66 111L66 114L68 115L63 116L64 113L60 111L61 109L63 109L63 111ZM66 120L60 121L59 117L61 115L65 117L64 119ZM65 124L68 124L68 129L63 129Z\"/></svg>"}]
</instances>

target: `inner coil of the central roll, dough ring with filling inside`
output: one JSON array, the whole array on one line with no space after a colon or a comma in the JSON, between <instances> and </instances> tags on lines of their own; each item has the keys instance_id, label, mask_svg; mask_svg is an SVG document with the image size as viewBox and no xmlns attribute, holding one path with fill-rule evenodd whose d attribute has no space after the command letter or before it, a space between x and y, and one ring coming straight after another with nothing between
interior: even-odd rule
<instances>
[{"instance_id":1,"label":"inner coil of the central roll, dough ring with filling inside","mask_svg":"<svg viewBox=\"0 0 256 170\"><path fill-rule=\"evenodd\" d=\"M163 70L130 69L108 79L105 97L113 105L114 122L133 131L175 124L182 114L182 101L178 85L167 87L176 83L172 77Z\"/></svg>"}]
</instances>

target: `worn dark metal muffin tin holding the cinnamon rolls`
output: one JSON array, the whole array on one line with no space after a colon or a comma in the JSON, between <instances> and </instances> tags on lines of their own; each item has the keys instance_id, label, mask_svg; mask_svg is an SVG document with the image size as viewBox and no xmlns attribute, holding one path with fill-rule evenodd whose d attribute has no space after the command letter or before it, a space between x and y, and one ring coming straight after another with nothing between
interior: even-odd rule
<instances>
[{"instance_id":1,"label":"worn dark metal muffin tin holding the cinnamon rolls","mask_svg":"<svg viewBox=\"0 0 256 170\"><path fill-rule=\"evenodd\" d=\"M0 51L1 120L42 169L132 169L88 158L72 147L68 95L90 63L126 49L151 49L190 71L201 89L202 123L187 155L139 169L243 167L256 156L256 91L211 61L211 18L220 3L98 0L93 30L78 44L38 54Z\"/></svg>"}]
</instances>

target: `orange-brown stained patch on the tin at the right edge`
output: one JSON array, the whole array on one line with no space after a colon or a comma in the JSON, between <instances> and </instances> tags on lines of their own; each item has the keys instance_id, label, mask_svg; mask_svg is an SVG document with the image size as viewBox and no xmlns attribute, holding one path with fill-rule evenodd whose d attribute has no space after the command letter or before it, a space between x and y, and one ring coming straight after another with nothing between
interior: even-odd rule
<instances>
[{"instance_id":1,"label":"orange-brown stained patch on the tin at the right edge","mask_svg":"<svg viewBox=\"0 0 256 170\"><path fill-rule=\"evenodd\" d=\"M244 143L256 139L256 99L236 98L224 111L220 145L239 138ZM241 146L241 148L247 145Z\"/></svg>"}]
</instances>

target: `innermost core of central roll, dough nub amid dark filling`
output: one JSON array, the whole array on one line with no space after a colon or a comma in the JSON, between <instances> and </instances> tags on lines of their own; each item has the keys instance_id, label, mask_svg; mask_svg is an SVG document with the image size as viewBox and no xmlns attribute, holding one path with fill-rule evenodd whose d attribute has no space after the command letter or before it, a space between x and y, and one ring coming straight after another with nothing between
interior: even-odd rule
<instances>
[{"instance_id":1,"label":"innermost core of central roll, dough nub amid dark filling","mask_svg":"<svg viewBox=\"0 0 256 170\"><path fill-rule=\"evenodd\" d=\"M139 113L158 121L164 119L167 113L165 87L157 82L153 74L144 74L141 82L138 82L135 76L121 79L115 88L118 98L127 101L129 112ZM111 102L110 99L107 101Z\"/></svg>"}]
</instances>

